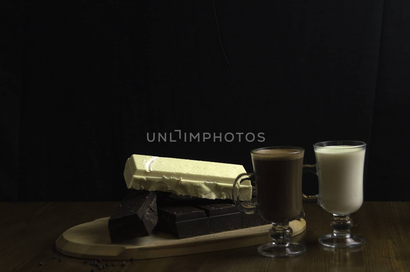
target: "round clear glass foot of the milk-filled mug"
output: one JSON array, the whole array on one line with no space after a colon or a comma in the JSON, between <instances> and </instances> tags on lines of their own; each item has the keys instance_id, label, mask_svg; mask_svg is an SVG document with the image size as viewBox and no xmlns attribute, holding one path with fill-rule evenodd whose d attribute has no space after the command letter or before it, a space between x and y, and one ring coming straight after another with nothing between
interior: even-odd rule
<instances>
[{"instance_id":1,"label":"round clear glass foot of the milk-filled mug","mask_svg":"<svg viewBox=\"0 0 410 272\"><path fill-rule=\"evenodd\" d=\"M366 239L350 233L330 233L319 238L319 243L325 247L345 248L363 245Z\"/></svg>"}]
</instances>

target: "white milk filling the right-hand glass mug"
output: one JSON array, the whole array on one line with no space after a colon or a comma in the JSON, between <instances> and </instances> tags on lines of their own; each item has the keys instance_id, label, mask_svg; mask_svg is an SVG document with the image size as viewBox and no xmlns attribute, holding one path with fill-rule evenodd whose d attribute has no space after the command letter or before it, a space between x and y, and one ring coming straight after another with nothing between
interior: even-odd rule
<instances>
[{"instance_id":1,"label":"white milk filling the right-hand glass mug","mask_svg":"<svg viewBox=\"0 0 410 272\"><path fill-rule=\"evenodd\" d=\"M325 211L348 215L362 206L365 152L347 145L315 148L319 204Z\"/></svg>"}]
</instances>

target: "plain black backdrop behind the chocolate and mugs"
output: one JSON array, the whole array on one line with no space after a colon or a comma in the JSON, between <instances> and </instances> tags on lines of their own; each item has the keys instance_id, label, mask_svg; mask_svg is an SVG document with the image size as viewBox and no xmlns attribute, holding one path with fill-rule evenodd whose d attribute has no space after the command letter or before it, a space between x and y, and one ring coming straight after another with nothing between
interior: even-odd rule
<instances>
[{"instance_id":1,"label":"plain black backdrop behind the chocolate and mugs","mask_svg":"<svg viewBox=\"0 0 410 272\"><path fill-rule=\"evenodd\" d=\"M365 200L410 200L410 2L215 7L232 73L211 0L3 2L0 200L120 200L131 154L251 171L253 148L314 163L329 140L368 144ZM266 140L147 141L174 129Z\"/></svg>"}]
</instances>

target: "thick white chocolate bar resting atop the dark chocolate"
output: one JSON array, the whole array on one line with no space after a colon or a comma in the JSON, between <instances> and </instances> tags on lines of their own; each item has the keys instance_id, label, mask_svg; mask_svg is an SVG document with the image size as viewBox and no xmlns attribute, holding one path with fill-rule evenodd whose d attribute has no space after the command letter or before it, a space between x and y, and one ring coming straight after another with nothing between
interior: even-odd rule
<instances>
[{"instance_id":1,"label":"thick white chocolate bar resting atop the dark chocolate","mask_svg":"<svg viewBox=\"0 0 410 272\"><path fill-rule=\"evenodd\" d=\"M245 173L242 165L132 155L125 163L129 189L164 191L208 199L232 199L235 178ZM240 200L251 200L251 182L242 182Z\"/></svg>"}]
</instances>

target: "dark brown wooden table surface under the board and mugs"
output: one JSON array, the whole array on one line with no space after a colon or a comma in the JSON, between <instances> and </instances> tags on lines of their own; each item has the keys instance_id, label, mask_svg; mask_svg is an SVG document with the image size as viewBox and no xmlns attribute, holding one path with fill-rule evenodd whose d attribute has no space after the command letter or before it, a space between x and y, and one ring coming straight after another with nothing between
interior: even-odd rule
<instances>
[{"instance_id":1,"label":"dark brown wooden table surface under the board and mugs","mask_svg":"<svg viewBox=\"0 0 410 272\"><path fill-rule=\"evenodd\" d=\"M70 227L109 216L118 204L0 202L0 271L90 271L92 267L82 259L57 252L55 240ZM352 233L367 241L353 249L319 245L317 238L331 232L332 216L318 205L304 204L304 208L307 229L295 236L307 248L300 256L266 258L253 246L138 260L125 266L117 262L105 271L410 271L410 202L364 202L351 215L355 222ZM53 259L53 254L63 261Z\"/></svg>"}]
</instances>

